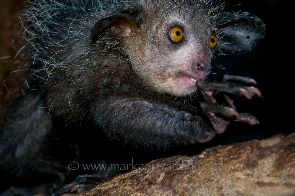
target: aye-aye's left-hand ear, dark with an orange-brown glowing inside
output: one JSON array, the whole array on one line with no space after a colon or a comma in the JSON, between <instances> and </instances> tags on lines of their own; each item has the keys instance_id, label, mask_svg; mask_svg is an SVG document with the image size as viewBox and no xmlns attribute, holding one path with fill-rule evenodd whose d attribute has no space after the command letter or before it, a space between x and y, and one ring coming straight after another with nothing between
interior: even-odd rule
<instances>
[{"instance_id":1,"label":"aye-aye's left-hand ear, dark with an orange-brown glowing inside","mask_svg":"<svg viewBox=\"0 0 295 196\"><path fill-rule=\"evenodd\" d=\"M129 37L130 32L137 28L138 24L132 15L114 14L94 24L91 30L92 41L97 41L101 37L110 40Z\"/></svg>"}]
</instances>

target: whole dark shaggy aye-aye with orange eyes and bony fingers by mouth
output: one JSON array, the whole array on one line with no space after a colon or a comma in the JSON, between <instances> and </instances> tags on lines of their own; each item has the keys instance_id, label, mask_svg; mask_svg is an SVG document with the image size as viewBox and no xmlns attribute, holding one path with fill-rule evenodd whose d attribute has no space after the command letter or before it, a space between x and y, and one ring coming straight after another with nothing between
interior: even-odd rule
<instances>
[{"instance_id":1,"label":"whole dark shaggy aye-aye with orange eyes and bony fingers by mouth","mask_svg":"<svg viewBox=\"0 0 295 196\"><path fill-rule=\"evenodd\" d=\"M214 55L247 52L264 37L265 24L249 13L212 0L34 0L22 22L28 88L0 134L0 166L9 175L50 174L53 163L39 152L67 129L165 148L209 141L230 121L258 123L227 95L260 95L228 82L255 80L206 80ZM199 97L198 107L191 97Z\"/></svg>"}]
</instances>

